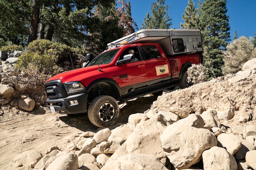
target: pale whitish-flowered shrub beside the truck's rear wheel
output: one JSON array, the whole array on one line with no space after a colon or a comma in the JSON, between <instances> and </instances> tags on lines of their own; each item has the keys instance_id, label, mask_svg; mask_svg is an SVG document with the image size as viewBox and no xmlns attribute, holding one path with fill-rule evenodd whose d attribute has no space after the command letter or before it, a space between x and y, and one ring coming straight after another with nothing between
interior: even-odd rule
<instances>
[{"instance_id":1,"label":"pale whitish-flowered shrub beside the truck's rear wheel","mask_svg":"<svg viewBox=\"0 0 256 170\"><path fill-rule=\"evenodd\" d=\"M209 78L209 69L202 64L192 64L188 68L188 83L197 84L202 81L206 81Z\"/></svg>"}]
</instances>

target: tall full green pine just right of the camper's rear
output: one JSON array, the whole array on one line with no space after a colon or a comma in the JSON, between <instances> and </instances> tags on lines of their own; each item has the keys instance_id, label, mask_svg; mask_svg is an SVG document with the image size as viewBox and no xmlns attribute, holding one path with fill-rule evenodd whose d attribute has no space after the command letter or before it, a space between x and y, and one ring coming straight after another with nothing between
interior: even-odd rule
<instances>
[{"instance_id":1,"label":"tall full green pine just right of the camper's rear","mask_svg":"<svg viewBox=\"0 0 256 170\"><path fill-rule=\"evenodd\" d=\"M204 45L204 65L212 77L222 76L223 51L230 40L226 0L205 0L202 4L200 27Z\"/></svg>"}]
</instances>

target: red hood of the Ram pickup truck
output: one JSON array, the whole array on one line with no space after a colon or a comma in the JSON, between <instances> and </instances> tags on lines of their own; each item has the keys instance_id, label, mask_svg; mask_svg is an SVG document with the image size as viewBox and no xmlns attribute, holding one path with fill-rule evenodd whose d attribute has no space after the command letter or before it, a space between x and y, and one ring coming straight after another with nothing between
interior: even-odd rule
<instances>
[{"instance_id":1,"label":"red hood of the Ram pickup truck","mask_svg":"<svg viewBox=\"0 0 256 170\"><path fill-rule=\"evenodd\" d=\"M101 65L100 68L101 68L101 70L103 70L106 68L106 65L105 66ZM81 77L81 76L85 77L85 75L90 74L92 72L96 72L96 71L98 71L98 65L79 68L79 69L75 69L75 70L57 74L47 81L61 80L62 83L71 82L71 81L80 81L80 79L78 79L78 77Z\"/></svg>"}]
</instances>

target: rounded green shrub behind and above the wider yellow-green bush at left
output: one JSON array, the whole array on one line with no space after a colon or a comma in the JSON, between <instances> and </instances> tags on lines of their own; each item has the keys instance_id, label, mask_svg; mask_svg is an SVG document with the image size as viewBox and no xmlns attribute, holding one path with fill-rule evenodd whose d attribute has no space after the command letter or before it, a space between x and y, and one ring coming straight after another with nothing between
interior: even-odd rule
<instances>
[{"instance_id":1,"label":"rounded green shrub behind and above the wider yellow-green bush at left","mask_svg":"<svg viewBox=\"0 0 256 170\"><path fill-rule=\"evenodd\" d=\"M47 39L37 39L29 43L26 50L43 54L52 48L52 44L52 41L49 41Z\"/></svg>"}]
</instances>

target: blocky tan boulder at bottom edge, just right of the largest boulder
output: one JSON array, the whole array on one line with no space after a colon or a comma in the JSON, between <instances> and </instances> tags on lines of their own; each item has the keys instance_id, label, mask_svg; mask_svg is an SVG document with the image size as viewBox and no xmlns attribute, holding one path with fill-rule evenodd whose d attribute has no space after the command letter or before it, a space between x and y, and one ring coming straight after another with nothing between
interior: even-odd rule
<instances>
[{"instance_id":1,"label":"blocky tan boulder at bottom edge, just right of the largest boulder","mask_svg":"<svg viewBox=\"0 0 256 170\"><path fill-rule=\"evenodd\" d=\"M214 146L202 154L205 170L237 169L235 158L224 148Z\"/></svg>"}]
</instances>

